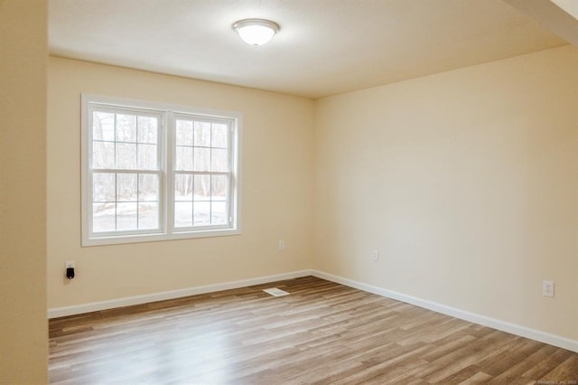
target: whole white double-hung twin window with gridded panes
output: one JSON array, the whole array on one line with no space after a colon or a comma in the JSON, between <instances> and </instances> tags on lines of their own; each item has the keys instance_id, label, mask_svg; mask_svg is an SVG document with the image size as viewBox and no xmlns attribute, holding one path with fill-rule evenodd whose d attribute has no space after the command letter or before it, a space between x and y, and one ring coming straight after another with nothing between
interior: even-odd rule
<instances>
[{"instance_id":1,"label":"whole white double-hung twin window with gridded panes","mask_svg":"<svg viewBox=\"0 0 578 385\"><path fill-rule=\"evenodd\" d=\"M84 246L239 232L240 115L82 99Z\"/></svg>"}]
</instances>

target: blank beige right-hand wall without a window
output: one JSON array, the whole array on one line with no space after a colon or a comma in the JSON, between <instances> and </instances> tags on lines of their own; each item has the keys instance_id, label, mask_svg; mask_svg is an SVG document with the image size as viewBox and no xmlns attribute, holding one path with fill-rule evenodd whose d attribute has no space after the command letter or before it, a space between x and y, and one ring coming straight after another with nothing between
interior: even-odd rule
<instances>
[{"instance_id":1,"label":"blank beige right-hand wall without a window","mask_svg":"<svg viewBox=\"0 0 578 385\"><path fill-rule=\"evenodd\" d=\"M314 268L578 340L577 69L566 46L319 100Z\"/></svg>"}]
</instances>

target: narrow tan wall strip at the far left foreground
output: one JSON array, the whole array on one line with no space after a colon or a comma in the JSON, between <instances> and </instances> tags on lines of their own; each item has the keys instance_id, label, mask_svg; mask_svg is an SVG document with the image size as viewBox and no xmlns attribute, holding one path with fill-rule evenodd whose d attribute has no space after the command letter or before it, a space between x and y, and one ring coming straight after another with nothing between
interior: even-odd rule
<instances>
[{"instance_id":1,"label":"narrow tan wall strip at the far left foreground","mask_svg":"<svg viewBox=\"0 0 578 385\"><path fill-rule=\"evenodd\" d=\"M45 383L45 0L0 0L0 383Z\"/></svg>"}]
</instances>

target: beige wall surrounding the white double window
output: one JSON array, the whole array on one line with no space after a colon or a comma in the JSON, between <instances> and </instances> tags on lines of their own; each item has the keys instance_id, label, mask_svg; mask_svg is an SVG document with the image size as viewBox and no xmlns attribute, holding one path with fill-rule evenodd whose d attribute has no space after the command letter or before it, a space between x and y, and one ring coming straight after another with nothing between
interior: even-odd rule
<instances>
[{"instance_id":1,"label":"beige wall surrounding the white double window","mask_svg":"<svg viewBox=\"0 0 578 385\"><path fill-rule=\"evenodd\" d=\"M242 235L81 248L82 92L242 113ZM311 268L312 119L309 99L51 58L49 308ZM76 261L71 282L66 260Z\"/></svg>"}]
</instances>

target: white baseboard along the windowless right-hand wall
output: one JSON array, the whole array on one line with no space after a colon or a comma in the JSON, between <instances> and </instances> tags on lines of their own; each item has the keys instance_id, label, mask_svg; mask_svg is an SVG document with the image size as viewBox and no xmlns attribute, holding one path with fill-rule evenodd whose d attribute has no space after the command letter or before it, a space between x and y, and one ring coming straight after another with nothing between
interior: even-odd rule
<instances>
[{"instance_id":1,"label":"white baseboard along the windowless right-hand wall","mask_svg":"<svg viewBox=\"0 0 578 385\"><path fill-rule=\"evenodd\" d=\"M319 270L312 270L312 276L327 279L328 281L338 283L340 285L350 286L359 290L367 291L368 293L377 294L378 296L387 296L388 298L396 299L397 301L406 302L410 305L423 307L424 309L433 310L434 312L443 315L451 315L455 318L460 318L474 324L481 324L483 326L491 327L502 332L512 333L521 337L529 338L531 340L539 341L540 343L548 343L569 351L578 352L578 341L571 340L559 335L541 332L536 329L530 329L526 326L518 324L510 324L495 318L490 318L485 315L477 315L466 312L452 306L438 304L425 299L417 298L415 296L407 296L396 291L387 290L378 286L368 285L353 279L334 276Z\"/></svg>"}]
</instances>

